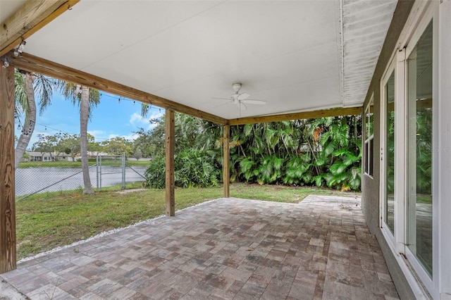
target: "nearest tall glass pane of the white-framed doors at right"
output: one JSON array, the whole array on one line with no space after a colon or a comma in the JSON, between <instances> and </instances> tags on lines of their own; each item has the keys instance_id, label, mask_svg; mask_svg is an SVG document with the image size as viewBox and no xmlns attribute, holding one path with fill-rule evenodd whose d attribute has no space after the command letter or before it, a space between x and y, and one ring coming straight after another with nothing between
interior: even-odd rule
<instances>
[{"instance_id":1,"label":"nearest tall glass pane of the white-framed doors at right","mask_svg":"<svg viewBox=\"0 0 451 300\"><path fill-rule=\"evenodd\" d=\"M433 25L407 58L407 246L432 276Z\"/></svg>"}]
</instances>

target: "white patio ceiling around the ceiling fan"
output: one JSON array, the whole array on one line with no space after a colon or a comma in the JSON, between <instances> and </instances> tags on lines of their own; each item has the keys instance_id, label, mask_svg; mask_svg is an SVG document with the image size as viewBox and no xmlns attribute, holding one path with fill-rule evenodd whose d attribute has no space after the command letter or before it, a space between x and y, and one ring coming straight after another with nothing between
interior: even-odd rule
<instances>
[{"instance_id":1,"label":"white patio ceiling around the ceiling fan","mask_svg":"<svg viewBox=\"0 0 451 300\"><path fill-rule=\"evenodd\" d=\"M0 0L1 21L20 2ZM395 5L82 0L25 52L226 119L360 106ZM212 99L234 82L267 104Z\"/></svg>"}]
</instances>

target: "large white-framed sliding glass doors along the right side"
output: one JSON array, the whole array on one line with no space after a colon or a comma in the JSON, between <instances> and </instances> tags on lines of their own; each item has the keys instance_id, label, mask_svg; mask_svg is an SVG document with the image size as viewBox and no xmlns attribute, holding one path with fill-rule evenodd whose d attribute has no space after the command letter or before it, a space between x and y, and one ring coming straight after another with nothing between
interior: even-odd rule
<instances>
[{"instance_id":1,"label":"large white-framed sliding glass doors along the right side","mask_svg":"<svg viewBox=\"0 0 451 300\"><path fill-rule=\"evenodd\" d=\"M414 293L440 299L451 287L451 5L414 7L381 77L381 230Z\"/></svg>"}]
</instances>

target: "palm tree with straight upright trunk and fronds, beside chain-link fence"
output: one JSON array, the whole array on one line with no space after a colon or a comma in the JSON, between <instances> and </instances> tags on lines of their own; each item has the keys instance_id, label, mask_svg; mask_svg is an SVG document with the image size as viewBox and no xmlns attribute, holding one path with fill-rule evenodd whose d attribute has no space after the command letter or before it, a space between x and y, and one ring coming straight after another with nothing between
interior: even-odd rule
<instances>
[{"instance_id":1,"label":"palm tree with straight upright trunk and fronds, beside chain-link fence","mask_svg":"<svg viewBox=\"0 0 451 300\"><path fill-rule=\"evenodd\" d=\"M89 87L75 85L70 82L60 81L58 85L66 99L70 99L73 105L80 106L80 152L82 156L83 194L94 194L87 160L87 123L91 117L92 108L99 104L100 93L97 89L89 89Z\"/></svg>"}]
</instances>

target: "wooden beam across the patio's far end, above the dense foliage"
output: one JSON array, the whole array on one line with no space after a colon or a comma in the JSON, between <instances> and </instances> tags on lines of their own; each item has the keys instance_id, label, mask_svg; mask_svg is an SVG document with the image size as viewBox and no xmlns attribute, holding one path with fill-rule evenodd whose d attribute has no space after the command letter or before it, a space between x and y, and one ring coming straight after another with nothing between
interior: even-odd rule
<instances>
[{"instance_id":1,"label":"wooden beam across the patio's far end, above the dense foliage","mask_svg":"<svg viewBox=\"0 0 451 300\"><path fill-rule=\"evenodd\" d=\"M248 117L229 120L229 125L245 125L255 123L269 123L288 120L300 119L316 119L324 117L336 117L338 115L360 115L362 107L347 107L347 108L330 108L321 109L319 111L302 111L300 113L283 113L280 115L264 115L261 117Z\"/></svg>"}]
</instances>

